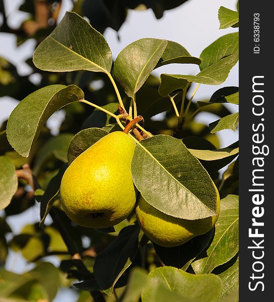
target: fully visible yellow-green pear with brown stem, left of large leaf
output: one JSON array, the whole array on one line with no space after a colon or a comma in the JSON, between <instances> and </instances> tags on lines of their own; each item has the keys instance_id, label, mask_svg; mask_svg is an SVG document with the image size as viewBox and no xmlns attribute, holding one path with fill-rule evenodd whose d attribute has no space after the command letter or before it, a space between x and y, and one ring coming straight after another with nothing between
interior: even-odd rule
<instances>
[{"instance_id":1,"label":"fully visible yellow-green pear with brown stem, left of large leaf","mask_svg":"<svg viewBox=\"0 0 274 302\"><path fill-rule=\"evenodd\" d=\"M130 170L135 146L128 134L112 132L66 169L60 196L72 221L87 228L108 228L130 214L136 202Z\"/></svg>"}]
</instances>

